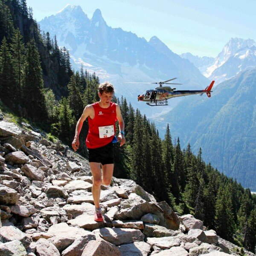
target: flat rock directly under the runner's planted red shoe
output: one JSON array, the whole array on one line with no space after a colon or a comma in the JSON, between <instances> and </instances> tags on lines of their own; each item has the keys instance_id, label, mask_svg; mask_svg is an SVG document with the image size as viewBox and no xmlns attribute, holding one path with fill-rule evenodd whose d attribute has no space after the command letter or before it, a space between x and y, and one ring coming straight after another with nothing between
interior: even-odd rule
<instances>
[{"instance_id":1,"label":"flat rock directly under the runner's planted red shoe","mask_svg":"<svg viewBox=\"0 0 256 256\"><path fill-rule=\"evenodd\" d=\"M111 222L94 221L94 215L82 214L73 220L67 221L67 224L75 227L81 227L87 230L96 230L102 227L113 227Z\"/></svg>"}]
</instances>

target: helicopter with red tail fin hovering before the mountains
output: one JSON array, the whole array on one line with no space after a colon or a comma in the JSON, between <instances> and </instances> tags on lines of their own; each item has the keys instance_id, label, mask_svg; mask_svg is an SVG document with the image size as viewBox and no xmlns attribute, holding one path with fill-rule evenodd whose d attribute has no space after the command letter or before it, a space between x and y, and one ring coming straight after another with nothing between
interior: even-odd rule
<instances>
[{"instance_id":1,"label":"helicopter with red tail fin hovering before the mountains","mask_svg":"<svg viewBox=\"0 0 256 256\"><path fill-rule=\"evenodd\" d=\"M138 95L138 101L146 102L149 106L166 106L168 105L167 100L180 97L180 96L188 96L204 93L207 94L208 97L211 97L211 89L215 81L212 81L209 86L207 86L204 90L176 90L176 88L171 88L170 86L163 86L163 84L176 84L176 83L168 83L177 79L177 77L169 79L163 82L155 82L155 83L140 83L140 82L126 82L128 84L159 84L159 87L155 89L146 90L145 93Z\"/></svg>"}]
</instances>

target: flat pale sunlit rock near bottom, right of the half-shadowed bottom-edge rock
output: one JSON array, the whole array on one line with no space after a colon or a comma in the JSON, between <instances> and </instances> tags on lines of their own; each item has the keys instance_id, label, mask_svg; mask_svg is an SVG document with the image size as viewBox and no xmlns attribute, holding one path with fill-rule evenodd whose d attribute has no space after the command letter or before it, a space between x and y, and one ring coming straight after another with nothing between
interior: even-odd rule
<instances>
[{"instance_id":1,"label":"flat pale sunlit rock near bottom, right of the half-shadowed bottom-edge rock","mask_svg":"<svg viewBox=\"0 0 256 256\"><path fill-rule=\"evenodd\" d=\"M180 239L173 236L148 237L146 240L147 243L150 244L151 248L157 246L160 249L169 249L173 246L180 246Z\"/></svg>"}]
</instances>

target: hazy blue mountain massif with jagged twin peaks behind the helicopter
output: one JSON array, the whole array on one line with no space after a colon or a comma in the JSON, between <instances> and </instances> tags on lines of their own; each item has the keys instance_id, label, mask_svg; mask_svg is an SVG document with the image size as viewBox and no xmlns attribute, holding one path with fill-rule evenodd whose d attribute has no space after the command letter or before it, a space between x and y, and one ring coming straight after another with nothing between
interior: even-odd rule
<instances>
[{"instance_id":1,"label":"hazy blue mountain massif with jagged twin peaks behind the helicopter","mask_svg":"<svg viewBox=\"0 0 256 256\"><path fill-rule=\"evenodd\" d=\"M80 6L67 5L56 15L40 22L41 30L57 36L58 45L70 51L73 67L81 64L89 72L96 72L100 81L110 81L116 95L122 94L135 108L146 109L143 113L160 113L169 108L153 110L137 95L154 86L124 84L124 81L156 82L178 77L178 82L188 88L204 88L209 84L200 71L188 60L180 58L158 38L148 42L132 32L111 28L96 9L89 19ZM173 106L180 99L173 99Z\"/></svg>"}]
</instances>

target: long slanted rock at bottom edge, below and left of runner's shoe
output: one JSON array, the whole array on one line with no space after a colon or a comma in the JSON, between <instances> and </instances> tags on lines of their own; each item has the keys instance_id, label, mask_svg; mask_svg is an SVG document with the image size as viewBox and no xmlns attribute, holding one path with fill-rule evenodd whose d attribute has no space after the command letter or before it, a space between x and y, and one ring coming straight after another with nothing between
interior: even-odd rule
<instances>
[{"instance_id":1,"label":"long slanted rock at bottom edge, below and left of runner's shoe","mask_svg":"<svg viewBox=\"0 0 256 256\"><path fill-rule=\"evenodd\" d=\"M95 235L88 234L79 237L76 239L73 244L71 244L67 249L65 249L61 255L62 256L81 256L85 246L88 244L89 241L96 240Z\"/></svg>"}]
</instances>

